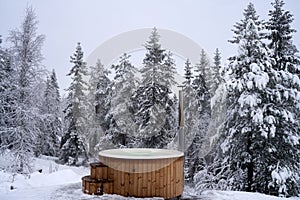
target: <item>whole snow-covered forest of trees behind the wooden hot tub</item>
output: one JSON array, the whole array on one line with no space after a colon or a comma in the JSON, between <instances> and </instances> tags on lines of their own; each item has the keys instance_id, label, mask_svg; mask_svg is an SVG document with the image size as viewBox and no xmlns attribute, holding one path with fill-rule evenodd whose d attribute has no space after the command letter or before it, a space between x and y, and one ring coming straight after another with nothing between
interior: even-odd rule
<instances>
[{"instance_id":1,"label":"whole snow-covered forest of trees behind the wooden hot tub","mask_svg":"<svg viewBox=\"0 0 300 200\"><path fill-rule=\"evenodd\" d=\"M31 7L8 38L0 39L0 169L32 172L32 159L58 157L85 165L108 148L176 148L178 98L184 95L185 178L206 189L300 193L300 60L293 15L282 0L260 19L252 3L233 26L237 46L228 64L216 48L210 61L189 59L176 83L172 52L156 28L144 47L142 68L124 52L118 64L87 66L80 43L70 57L72 81L61 97L55 71L41 66L44 35ZM71 54L71 52L70 52ZM181 66L182 67L182 66ZM137 74L140 74L137 76ZM208 152L203 151L209 149Z\"/></svg>"}]
</instances>

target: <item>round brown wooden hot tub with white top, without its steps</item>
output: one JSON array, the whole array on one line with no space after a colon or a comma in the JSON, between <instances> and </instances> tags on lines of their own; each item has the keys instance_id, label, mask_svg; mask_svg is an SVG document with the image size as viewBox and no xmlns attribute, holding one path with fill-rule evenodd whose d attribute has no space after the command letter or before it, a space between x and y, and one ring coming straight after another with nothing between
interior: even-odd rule
<instances>
[{"instance_id":1,"label":"round brown wooden hot tub with white top, without its steps","mask_svg":"<svg viewBox=\"0 0 300 200\"><path fill-rule=\"evenodd\" d=\"M111 149L99 153L108 167L111 193L174 198L183 192L183 153L167 149Z\"/></svg>"}]
</instances>

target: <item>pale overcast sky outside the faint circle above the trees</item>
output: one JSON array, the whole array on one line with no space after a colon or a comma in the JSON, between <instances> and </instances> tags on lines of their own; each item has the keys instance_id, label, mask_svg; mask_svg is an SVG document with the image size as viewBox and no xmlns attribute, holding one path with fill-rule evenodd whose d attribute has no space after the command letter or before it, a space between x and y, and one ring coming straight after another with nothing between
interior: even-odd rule
<instances>
[{"instance_id":1,"label":"pale overcast sky outside the faint circle above the trees","mask_svg":"<svg viewBox=\"0 0 300 200\"><path fill-rule=\"evenodd\" d=\"M61 89L68 87L70 55L81 42L85 57L101 43L122 32L158 27L181 33L203 47L209 56L219 48L223 61L235 53L233 25L253 2L261 19L268 18L273 0L0 0L0 34L20 27L27 5L39 20L38 33L46 36L43 65L55 69ZM300 1L285 0L294 15L294 43L300 49Z\"/></svg>"}]
</instances>

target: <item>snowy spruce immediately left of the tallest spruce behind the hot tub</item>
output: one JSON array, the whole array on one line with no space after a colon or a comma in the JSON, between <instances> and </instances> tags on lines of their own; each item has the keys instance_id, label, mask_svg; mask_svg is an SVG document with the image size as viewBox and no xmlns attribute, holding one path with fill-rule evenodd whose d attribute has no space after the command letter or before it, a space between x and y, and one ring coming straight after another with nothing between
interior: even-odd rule
<instances>
[{"instance_id":1,"label":"snowy spruce immediately left of the tallest spruce behind the hot tub","mask_svg":"<svg viewBox=\"0 0 300 200\"><path fill-rule=\"evenodd\" d=\"M112 142L116 147L135 146L134 135L137 127L134 123L131 98L138 85L138 80L135 77L137 69L130 63L129 58L130 55L124 53L120 57L119 64L112 65L115 77L109 111L112 118L107 134L111 135Z\"/></svg>"}]
</instances>

